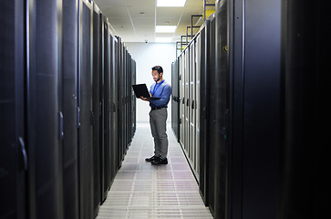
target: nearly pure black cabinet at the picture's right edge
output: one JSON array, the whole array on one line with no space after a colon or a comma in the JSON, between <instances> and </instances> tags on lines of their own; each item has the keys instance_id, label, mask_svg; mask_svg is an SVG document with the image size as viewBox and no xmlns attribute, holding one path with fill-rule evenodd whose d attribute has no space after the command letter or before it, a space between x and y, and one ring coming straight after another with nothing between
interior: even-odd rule
<instances>
[{"instance_id":1,"label":"nearly pure black cabinet at the picture's right edge","mask_svg":"<svg viewBox=\"0 0 331 219\"><path fill-rule=\"evenodd\" d=\"M278 218L327 218L330 28L323 1L282 1L283 110Z\"/></svg>"}]
</instances>

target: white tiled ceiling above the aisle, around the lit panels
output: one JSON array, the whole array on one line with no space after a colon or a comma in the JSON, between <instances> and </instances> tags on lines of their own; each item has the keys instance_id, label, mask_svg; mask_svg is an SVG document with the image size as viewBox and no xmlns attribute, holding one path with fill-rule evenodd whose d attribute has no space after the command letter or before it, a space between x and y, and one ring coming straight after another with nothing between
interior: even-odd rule
<instances>
[{"instance_id":1,"label":"white tiled ceiling above the aisle, around the lit panels","mask_svg":"<svg viewBox=\"0 0 331 219\"><path fill-rule=\"evenodd\" d=\"M155 42L156 37L181 36L191 32L191 15L203 15L203 0L187 0L184 7L157 7L156 0L94 0L104 16L109 18L112 34L123 42ZM214 0L206 4L214 4ZM207 6L206 10L214 10ZM203 17L193 16L193 26L201 26ZM155 33L155 26L177 26L175 33ZM193 28L197 31L199 28ZM186 37L185 37L186 38Z\"/></svg>"}]
</instances>

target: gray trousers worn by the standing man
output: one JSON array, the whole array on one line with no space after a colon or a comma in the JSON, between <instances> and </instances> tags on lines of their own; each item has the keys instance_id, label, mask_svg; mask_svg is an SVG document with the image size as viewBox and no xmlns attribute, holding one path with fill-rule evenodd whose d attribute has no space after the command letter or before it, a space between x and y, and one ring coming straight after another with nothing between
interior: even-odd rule
<instances>
[{"instance_id":1,"label":"gray trousers worn by the standing man","mask_svg":"<svg viewBox=\"0 0 331 219\"><path fill-rule=\"evenodd\" d=\"M154 156L161 159L167 158L168 153L167 118L166 108L150 110L150 130L154 138Z\"/></svg>"}]
</instances>

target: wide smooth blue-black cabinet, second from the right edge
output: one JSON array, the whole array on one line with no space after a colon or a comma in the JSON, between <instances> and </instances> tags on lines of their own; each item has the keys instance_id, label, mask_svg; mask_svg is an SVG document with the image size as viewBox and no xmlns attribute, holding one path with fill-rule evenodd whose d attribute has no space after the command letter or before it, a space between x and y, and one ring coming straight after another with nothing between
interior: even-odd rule
<instances>
[{"instance_id":1,"label":"wide smooth blue-black cabinet, second from the right edge","mask_svg":"<svg viewBox=\"0 0 331 219\"><path fill-rule=\"evenodd\" d=\"M281 1L228 4L229 39L233 40L229 51L233 55L229 57L231 197L227 214L229 218L276 218Z\"/></svg>"}]
</instances>

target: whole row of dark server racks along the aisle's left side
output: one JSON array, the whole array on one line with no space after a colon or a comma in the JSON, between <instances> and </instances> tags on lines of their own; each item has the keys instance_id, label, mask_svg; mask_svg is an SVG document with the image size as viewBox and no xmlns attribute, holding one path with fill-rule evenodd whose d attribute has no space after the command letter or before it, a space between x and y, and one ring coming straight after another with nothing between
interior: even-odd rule
<instances>
[{"instance_id":1,"label":"whole row of dark server racks along the aisle's left side","mask_svg":"<svg viewBox=\"0 0 331 219\"><path fill-rule=\"evenodd\" d=\"M119 60L128 78L122 151L134 134L135 62L128 51L119 58L92 1L0 5L0 217L92 218L119 170Z\"/></svg>"}]
</instances>

